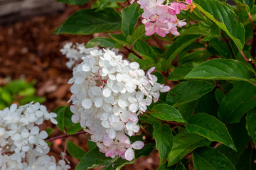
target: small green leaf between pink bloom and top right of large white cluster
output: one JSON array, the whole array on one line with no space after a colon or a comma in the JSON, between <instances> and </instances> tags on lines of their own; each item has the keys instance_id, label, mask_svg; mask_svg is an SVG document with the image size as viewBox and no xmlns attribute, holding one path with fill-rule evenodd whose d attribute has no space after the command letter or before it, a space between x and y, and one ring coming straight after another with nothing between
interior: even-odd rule
<instances>
[{"instance_id":1,"label":"small green leaf between pink bloom and top right of large white cluster","mask_svg":"<svg viewBox=\"0 0 256 170\"><path fill-rule=\"evenodd\" d=\"M154 50L150 45L144 42L144 40L139 39L134 43L134 51L138 52L142 57L145 57L145 59L152 59L156 62L156 54Z\"/></svg>"}]
</instances>

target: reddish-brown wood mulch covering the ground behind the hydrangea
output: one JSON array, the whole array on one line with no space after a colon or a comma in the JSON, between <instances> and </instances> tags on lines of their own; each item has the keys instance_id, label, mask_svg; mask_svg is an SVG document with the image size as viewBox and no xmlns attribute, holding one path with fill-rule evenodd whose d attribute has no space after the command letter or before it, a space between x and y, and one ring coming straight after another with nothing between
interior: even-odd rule
<instances>
[{"instance_id":1,"label":"reddish-brown wood mulch covering the ground behind the hydrangea","mask_svg":"<svg viewBox=\"0 0 256 170\"><path fill-rule=\"evenodd\" d=\"M53 111L58 106L68 106L70 98L70 85L68 80L72 72L65 66L68 60L61 55L60 48L66 42L87 42L93 35L55 35L53 30L68 16L78 10L78 6L67 6L65 11L52 13L47 16L34 16L0 26L0 86L5 84L5 79L36 80L38 96L45 96L48 111ZM44 129L52 125L46 123ZM58 130L52 136L61 135ZM77 137L69 137L77 145L87 151L87 135L81 134ZM53 142L51 155L56 159L64 150L65 140L62 144ZM78 159L70 157L72 168L78 164ZM132 165L124 169L157 169L159 157L154 151L150 157L137 159Z\"/></svg>"}]
</instances>

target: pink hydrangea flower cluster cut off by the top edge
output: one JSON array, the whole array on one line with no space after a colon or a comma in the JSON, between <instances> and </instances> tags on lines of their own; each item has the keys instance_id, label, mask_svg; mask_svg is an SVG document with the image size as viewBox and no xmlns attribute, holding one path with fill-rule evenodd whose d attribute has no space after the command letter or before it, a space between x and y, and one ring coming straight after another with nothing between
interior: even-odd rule
<instances>
[{"instance_id":1,"label":"pink hydrangea flower cluster cut off by the top edge","mask_svg":"<svg viewBox=\"0 0 256 170\"><path fill-rule=\"evenodd\" d=\"M137 3L143 8L142 23L145 24L146 35L150 36L154 33L161 37L166 34L179 35L177 27L186 25L184 20L178 20L177 15L182 9L186 9L186 4L192 4L192 0L183 2L174 1L172 3L163 4L165 0L139 0ZM131 3L133 3L131 1Z\"/></svg>"}]
</instances>

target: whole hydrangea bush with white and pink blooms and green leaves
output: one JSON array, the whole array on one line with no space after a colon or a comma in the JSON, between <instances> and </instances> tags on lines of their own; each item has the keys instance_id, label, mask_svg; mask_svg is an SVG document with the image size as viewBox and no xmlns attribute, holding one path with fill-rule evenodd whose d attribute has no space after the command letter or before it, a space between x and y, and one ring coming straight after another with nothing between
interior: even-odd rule
<instances>
[{"instance_id":1,"label":"whole hydrangea bush with white and pink blooms and green leaves","mask_svg":"<svg viewBox=\"0 0 256 170\"><path fill-rule=\"evenodd\" d=\"M44 140L81 133L88 152L67 142L78 170L122 169L155 149L159 170L256 169L255 0L58 1L87 8L56 34L105 37L60 50L70 107L0 112L1 169L70 169ZM39 132L49 119L63 135Z\"/></svg>"}]
</instances>

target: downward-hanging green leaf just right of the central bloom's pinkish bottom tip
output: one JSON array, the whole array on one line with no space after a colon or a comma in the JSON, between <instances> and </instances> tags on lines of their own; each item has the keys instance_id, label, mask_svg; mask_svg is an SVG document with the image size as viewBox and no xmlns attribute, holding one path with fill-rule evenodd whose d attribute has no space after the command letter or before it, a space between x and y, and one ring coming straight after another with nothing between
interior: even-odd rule
<instances>
[{"instance_id":1,"label":"downward-hanging green leaf just right of the central bloom's pinkish bottom tip","mask_svg":"<svg viewBox=\"0 0 256 170\"><path fill-rule=\"evenodd\" d=\"M156 140L156 149L159 150L160 164L166 161L171 148L174 145L174 136L171 134L171 128L168 125L157 123L154 125L153 136Z\"/></svg>"}]
</instances>

